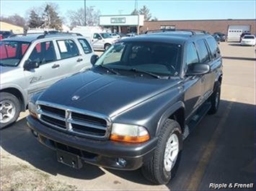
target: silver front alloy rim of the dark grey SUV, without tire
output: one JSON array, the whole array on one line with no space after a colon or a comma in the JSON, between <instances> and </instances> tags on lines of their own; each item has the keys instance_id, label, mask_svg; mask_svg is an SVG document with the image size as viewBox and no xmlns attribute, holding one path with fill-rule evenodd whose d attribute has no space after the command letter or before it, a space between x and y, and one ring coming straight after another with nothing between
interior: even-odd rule
<instances>
[{"instance_id":1,"label":"silver front alloy rim of the dark grey SUV, without tire","mask_svg":"<svg viewBox=\"0 0 256 191\"><path fill-rule=\"evenodd\" d=\"M179 153L179 139L176 134L172 134L166 144L164 151L164 169L167 172L172 170L175 166L177 156Z\"/></svg>"}]
</instances>

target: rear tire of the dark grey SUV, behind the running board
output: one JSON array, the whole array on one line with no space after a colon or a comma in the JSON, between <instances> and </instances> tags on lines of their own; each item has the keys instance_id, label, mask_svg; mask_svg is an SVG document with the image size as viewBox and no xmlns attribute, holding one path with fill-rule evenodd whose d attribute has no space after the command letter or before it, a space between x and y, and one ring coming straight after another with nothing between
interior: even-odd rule
<instances>
[{"instance_id":1,"label":"rear tire of the dark grey SUV, behind the running board","mask_svg":"<svg viewBox=\"0 0 256 191\"><path fill-rule=\"evenodd\" d=\"M214 88L213 94L210 97L211 108L208 111L209 114L217 113L217 111L219 109L220 100L221 100L221 83L219 81L217 81L215 83L215 88Z\"/></svg>"}]
</instances>

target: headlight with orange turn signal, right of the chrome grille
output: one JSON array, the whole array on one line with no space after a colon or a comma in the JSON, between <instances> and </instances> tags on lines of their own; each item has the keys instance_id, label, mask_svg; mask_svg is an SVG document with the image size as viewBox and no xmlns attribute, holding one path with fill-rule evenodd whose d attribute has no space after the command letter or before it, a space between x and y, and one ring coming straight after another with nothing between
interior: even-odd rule
<instances>
[{"instance_id":1,"label":"headlight with orange turn signal, right of the chrome grille","mask_svg":"<svg viewBox=\"0 0 256 191\"><path fill-rule=\"evenodd\" d=\"M144 126L112 124L110 139L130 143L141 143L149 140L149 132Z\"/></svg>"}]
</instances>

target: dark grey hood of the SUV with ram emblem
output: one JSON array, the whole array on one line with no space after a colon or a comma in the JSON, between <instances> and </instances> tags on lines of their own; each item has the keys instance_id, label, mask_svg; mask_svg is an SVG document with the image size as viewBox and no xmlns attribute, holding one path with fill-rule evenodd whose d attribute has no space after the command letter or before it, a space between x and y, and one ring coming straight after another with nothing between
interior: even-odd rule
<instances>
[{"instance_id":1,"label":"dark grey hood of the SUV with ram emblem","mask_svg":"<svg viewBox=\"0 0 256 191\"><path fill-rule=\"evenodd\" d=\"M157 95L179 80L102 75L89 70L58 81L40 95L40 101L117 116ZM76 95L79 99L72 101Z\"/></svg>"}]
</instances>

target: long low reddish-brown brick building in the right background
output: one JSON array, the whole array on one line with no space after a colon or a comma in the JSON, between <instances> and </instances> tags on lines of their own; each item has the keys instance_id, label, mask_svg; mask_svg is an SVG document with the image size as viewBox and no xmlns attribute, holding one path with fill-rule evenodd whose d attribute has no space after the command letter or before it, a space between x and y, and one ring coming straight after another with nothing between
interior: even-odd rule
<instances>
[{"instance_id":1,"label":"long low reddish-brown brick building in the right background","mask_svg":"<svg viewBox=\"0 0 256 191\"><path fill-rule=\"evenodd\" d=\"M255 32L255 19L211 19L211 20L168 20L168 21L144 21L140 27L140 33L155 29L200 29L210 33L222 32L227 34L230 25L250 25L250 32Z\"/></svg>"}]
</instances>

